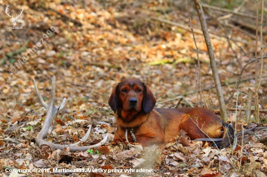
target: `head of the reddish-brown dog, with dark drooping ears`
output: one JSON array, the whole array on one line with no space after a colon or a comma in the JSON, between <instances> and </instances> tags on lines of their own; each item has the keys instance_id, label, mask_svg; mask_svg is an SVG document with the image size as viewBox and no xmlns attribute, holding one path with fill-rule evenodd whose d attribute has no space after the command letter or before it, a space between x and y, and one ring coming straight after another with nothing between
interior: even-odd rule
<instances>
[{"instance_id":1,"label":"head of the reddish-brown dog, with dark drooping ears","mask_svg":"<svg viewBox=\"0 0 267 177\"><path fill-rule=\"evenodd\" d=\"M144 111L148 114L154 108L156 99L140 80L125 79L113 89L108 103L114 112L119 107L124 111Z\"/></svg>"}]
</instances>

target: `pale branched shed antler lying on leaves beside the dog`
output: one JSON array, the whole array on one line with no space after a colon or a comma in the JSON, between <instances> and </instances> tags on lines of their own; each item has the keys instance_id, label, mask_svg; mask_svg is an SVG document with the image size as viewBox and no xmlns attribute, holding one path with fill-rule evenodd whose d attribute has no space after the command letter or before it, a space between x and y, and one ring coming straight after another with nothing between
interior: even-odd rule
<instances>
[{"instance_id":1,"label":"pale branched shed antler lying on leaves beside the dog","mask_svg":"<svg viewBox=\"0 0 267 177\"><path fill-rule=\"evenodd\" d=\"M67 145L58 145L58 144L50 143L50 142L44 140L44 137L48 133L50 124L51 124L55 114L57 113L57 111L60 112L62 109L64 109L65 103L66 103L66 98L64 98L63 102L61 103L61 105L60 105L60 107L58 109L58 106L55 106L55 94L56 94L56 92L55 92L56 91L56 87L55 87L55 85L56 85L56 77L55 76L53 76L53 78L52 78L52 88L51 88L51 96L50 96L49 104L45 103L43 97L41 96L41 94L40 94L40 92L39 92L39 90L37 88L37 85L36 85L34 79L33 79L33 82L34 82L34 87L35 87L36 94L38 95L41 104L47 110L47 115L46 115L42 130L37 134L37 136L35 138L35 142L39 147L42 147L44 145L48 145L53 149L69 148L70 151L86 151L86 150L88 150L90 148L97 148L97 147L101 146L102 144L104 144L107 141L108 135L106 135L103 138L103 140L100 141L96 145L84 146L84 147L76 147L77 143L67 146ZM90 130L91 130L91 127L88 130L89 133L90 133ZM81 141L85 141L88 138L88 136L89 136L88 132L85 135L86 138L84 137Z\"/></svg>"}]
</instances>

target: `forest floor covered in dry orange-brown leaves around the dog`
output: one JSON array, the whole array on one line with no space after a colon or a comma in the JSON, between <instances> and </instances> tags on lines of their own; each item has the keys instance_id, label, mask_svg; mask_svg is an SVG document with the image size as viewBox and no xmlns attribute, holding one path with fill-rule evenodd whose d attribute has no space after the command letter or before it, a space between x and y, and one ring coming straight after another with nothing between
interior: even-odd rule
<instances>
[{"instance_id":1,"label":"forest floor covered in dry orange-brown leaves around the dog","mask_svg":"<svg viewBox=\"0 0 267 177\"><path fill-rule=\"evenodd\" d=\"M193 106L199 106L197 52L192 32L188 30L185 0L10 0L0 1L0 4L3 7L0 11L1 176L261 177L267 174L267 147L257 141L262 134L246 133L249 140L242 144L242 139L238 139L235 150L233 146L224 149L201 147L202 142L190 141L184 133L174 137L172 142L147 148L111 144L116 124L114 128L114 112L107 102L112 89L125 78L138 78L145 82L157 100L156 107L189 107L187 102L177 98L180 96ZM240 4L242 0L229 6L220 0L210 3L230 10ZM12 26L5 12L7 5L10 14L18 13L23 6L24 11L17 20L17 26L23 29L7 29L6 26ZM206 108L215 111L218 101L207 47L199 33L201 27L194 2L190 1L189 6L199 47L202 102ZM246 113L238 111L246 108L246 93L248 88L254 90L255 71L260 71L260 60L257 69L253 62L256 36L251 26L255 26L256 20L207 8L204 12L227 109L237 108L237 112L228 111L229 123L236 127L236 132L240 132L242 126L245 129L255 125L267 126L265 114L260 115L260 123L254 119L253 113L250 121L245 122ZM255 12L255 4L250 1L240 9L240 13L246 15L255 16ZM224 15L230 17L219 18ZM265 17L265 58L266 22ZM38 49L32 51L32 55L28 54L29 59L26 59L28 49L38 42ZM259 46L260 41L258 57ZM267 104L266 59L263 68L259 97L264 106ZM35 144L46 111L34 91L33 79L48 103L53 75L56 77L56 105L60 105L64 98L67 98L67 103L58 115L49 141L71 137L62 144L78 142L91 126L94 133L79 146L99 142L108 134L108 141L101 148L70 152L67 148L39 148ZM167 101L170 99L173 100ZM164 101L167 102L161 103ZM9 138L18 143L8 141ZM40 171L10 173L12 168ZM84 169L87 172L53 172L52 169L56 168ZM89 169L101 171L89 173ZM149 169L150 172L129 171L137 169Z\"/></svg>"}]
</instances>

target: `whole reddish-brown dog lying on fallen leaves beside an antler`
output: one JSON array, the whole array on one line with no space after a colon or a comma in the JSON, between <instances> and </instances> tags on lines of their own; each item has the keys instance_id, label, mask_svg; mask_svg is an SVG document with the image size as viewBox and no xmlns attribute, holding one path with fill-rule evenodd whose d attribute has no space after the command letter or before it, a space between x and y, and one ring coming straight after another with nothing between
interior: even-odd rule
<instances>
[{"instance_id":1,"label":"whole reddish-brown dog lying on fallen leaves beside an antler","mask_svg":"<svg viewBox=\"0 0 267 177\"><path fill-rule=\"evenodd\" d=\"M154 108L156 99L138 79L118 83L108 103L117 119L114 142L126 141L126 129L133 129L136 143L143 146L165 143L178 135L181 129L191 139L222 137L223 140L217 143L218 148L228 147L234 141L233 128L208 109ZM127 137L130 142L133 141L129 134Z\"/></svg>"}]
</instances>

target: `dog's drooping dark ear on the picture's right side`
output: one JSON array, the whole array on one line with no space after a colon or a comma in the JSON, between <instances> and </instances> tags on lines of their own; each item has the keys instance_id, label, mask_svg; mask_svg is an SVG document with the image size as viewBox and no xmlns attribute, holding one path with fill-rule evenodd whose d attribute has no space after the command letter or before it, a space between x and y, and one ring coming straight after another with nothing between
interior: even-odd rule
<instances>
[{"instance_id":1,"label":"dog's drooping dark ear on the picture's right side","mask_svg":"<svg viewBox=\"0 0 267 177\"><path fill-rule=\"evenodd\" d=\"M151 92L151 90L144 84L144 99L143 99L143 109L145 113L150 113L156 104L156 99Z\"/></svg>"}]
</instances>

